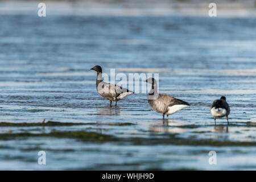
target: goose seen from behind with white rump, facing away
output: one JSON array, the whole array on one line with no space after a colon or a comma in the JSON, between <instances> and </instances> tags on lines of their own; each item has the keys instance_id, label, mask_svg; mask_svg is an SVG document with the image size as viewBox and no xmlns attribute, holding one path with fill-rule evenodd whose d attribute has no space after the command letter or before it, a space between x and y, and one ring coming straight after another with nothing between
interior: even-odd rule
<instances>
[{"instance_id":1,"label":"goose seen from behind with white rump, facing away","mask_svg":"<svg viewBox=\"0 0 256 182\"><path fill-rule=\"evenodd\" d=\"M221 118L226 116L226 120L229 124L229 115L230 108L228 102L226 102L226 97L222 96L220 99L213 101L212 107L210 107L210 114L212 114L214 118L214 122L216 125L216 118Z\"/></svg>"}]
</instances>

